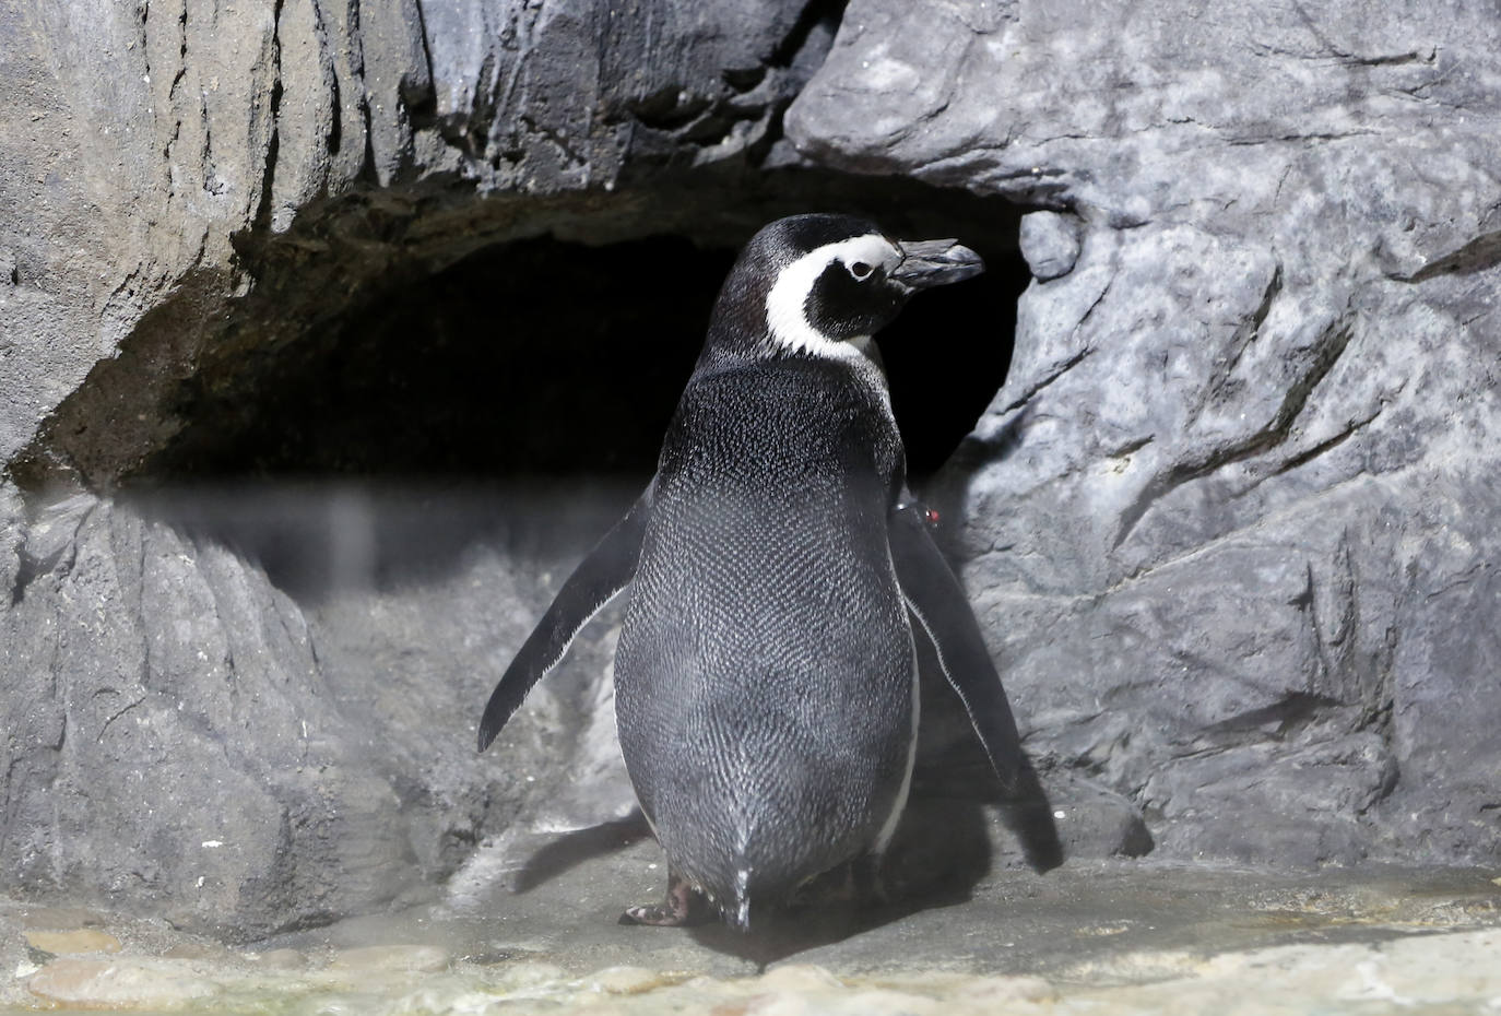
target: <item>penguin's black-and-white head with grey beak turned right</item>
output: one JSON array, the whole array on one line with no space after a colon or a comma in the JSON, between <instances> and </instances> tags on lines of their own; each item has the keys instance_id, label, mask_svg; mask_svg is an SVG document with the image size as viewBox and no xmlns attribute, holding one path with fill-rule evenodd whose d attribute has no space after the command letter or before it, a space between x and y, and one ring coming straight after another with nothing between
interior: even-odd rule
<instances>
[{"instance_id":1,"label":"penguin's black-and-white head with grey beak turned right","mask_svg":"<svg viewBox=\"0 0 1501 1016\"><path fill-rule=\"evenodd\" d=\"M868 356L871 336L914 293L983 270L980 255L955 240L893 240L848 215L778 219L729 270L710 345L717 339L760 356Z\"/></svg>"}]
</instances>

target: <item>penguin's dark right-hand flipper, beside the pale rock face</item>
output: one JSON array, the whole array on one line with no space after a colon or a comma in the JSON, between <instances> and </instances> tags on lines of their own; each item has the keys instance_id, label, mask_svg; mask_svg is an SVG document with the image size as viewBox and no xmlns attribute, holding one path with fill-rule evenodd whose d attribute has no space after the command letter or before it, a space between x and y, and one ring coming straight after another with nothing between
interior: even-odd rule
<instances>
[{"instance_id":1,"label":"penguin's dark right-hand flipper, beside the pale rock face","mask_svg":"<svg viewBox=\"0 0 1501 1016\"><path fill-rule=\"evenodd\" d=\"M949 684L959 693L974 732L1007 794L1016 792L1027 765L1006 689L985 647L964 587L929 533L928 509L904 497L892 510L890 540L896 581L907 609L928 635Z\"/></svg>"}]
</instances>

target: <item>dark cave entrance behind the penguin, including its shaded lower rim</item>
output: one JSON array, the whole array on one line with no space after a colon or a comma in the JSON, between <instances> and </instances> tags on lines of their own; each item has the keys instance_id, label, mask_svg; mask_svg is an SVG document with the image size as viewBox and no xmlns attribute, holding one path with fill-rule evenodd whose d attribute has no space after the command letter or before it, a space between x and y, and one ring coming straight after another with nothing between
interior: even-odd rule
<instances>
[{"instance_id":1,"label":"dark cave entrance behind the penguin, including its shaded lower rim","mask_svg":"<svg viewBox=\"0 0 1501 1016\"><path fill-rule=\"evenodd\" d=\"M377 579L428 572L497 513L551 521L582 551L650 479L738 246L772 218L826 209L868 215L901 237L959 237L986 261L977 279L916 297L878 336L920 489L1004 381L1030 278L1019 210L823 174L754 197L705 209L698 195L696 218L639 216L671 234L638 225L633 236L615 222L597 242L585 221L569 240L510 240L432 273L392 272L296 341L188 378L173 405L183 426L131 485L158 491L171 521L260 560L296 597L350 575L368 581L372 569ZM270 287L294 290L296 278ZM510 500L476 500L495 488ZM528 495L516 500L518 489ZM393 503L404 506L395 515ZM417 539L422 528L435 531ZM402 548L411 560L389 567Z\"/></svg>"}]
</instances>

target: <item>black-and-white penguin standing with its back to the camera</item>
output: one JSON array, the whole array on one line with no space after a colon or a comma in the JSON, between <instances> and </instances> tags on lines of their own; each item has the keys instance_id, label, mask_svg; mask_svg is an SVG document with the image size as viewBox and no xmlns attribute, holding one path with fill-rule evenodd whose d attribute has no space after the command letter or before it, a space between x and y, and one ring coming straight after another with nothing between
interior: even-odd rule
<instances>
[{"instance_id":1,"label":"black-and-white penguin standing with its back to the camera","mask_svg":"<svg viewBox=\"0 0 1501 1016\"><path fill-rule=\"evenodd\" d=\"M629 587L615 722L668 891L623 923L717 909L747 930L844 863L874 885L911 785L917 638L1003 786L1016 785L1016 723L931 513L907 489L872 338L914 293L980 272L955 240L895 240L847 215L757 233L719 293L656 474L495 686L482 752Z\"/></svg>"}]
</instances>

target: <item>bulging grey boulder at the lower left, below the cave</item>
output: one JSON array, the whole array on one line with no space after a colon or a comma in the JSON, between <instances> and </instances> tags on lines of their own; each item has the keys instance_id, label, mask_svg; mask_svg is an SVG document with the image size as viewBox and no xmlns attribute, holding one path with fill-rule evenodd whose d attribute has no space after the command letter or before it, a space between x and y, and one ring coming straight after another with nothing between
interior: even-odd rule
<instances>
[{"instance_id":1,"label":"bulging grey boulder at the lower left, below the cave","mask_svg":"<svg viewBox=\"0 0 1501 1016\"><path fill-rule=\"evenodd\" d=\"M389 897L378 863L339 857L347 882L297 863L333 861L372 818L321 794L365 810L381 794L326 747L338 723L296 608L228 551L131 512L74 500L60 521L69 552L30 558L3 618L20 684L5 701L9 882L90 903L147 891L230 936L278 926L269 911L305 921Z\"/></svg>"}]
</instances>

